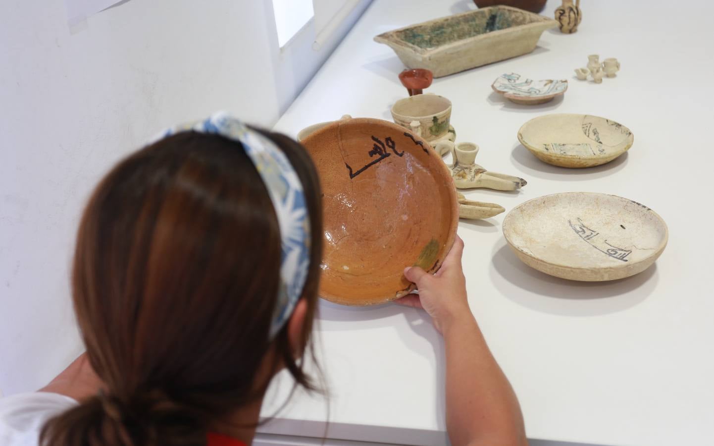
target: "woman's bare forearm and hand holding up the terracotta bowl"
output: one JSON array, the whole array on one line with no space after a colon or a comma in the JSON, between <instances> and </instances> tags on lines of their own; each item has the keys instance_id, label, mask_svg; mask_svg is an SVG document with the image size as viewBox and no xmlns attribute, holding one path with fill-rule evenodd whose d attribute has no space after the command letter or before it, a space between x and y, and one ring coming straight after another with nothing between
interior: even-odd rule
<instances>
[{"instance_id":1,"label":"woman's bare forearm and hand holding up the terracotta bowl","mask_svg":"<svg viewBox=\"0 0 714 446\"><path fill-rule=\"evenodd\" d=\"M398 303L431 315L446 347L446 430L455 446L528 445L518 399L488 350L466 299L461 267L463 241L454 246L435 275L418 267L404 274L419 295Z\"/></svg>"}]
</instances>

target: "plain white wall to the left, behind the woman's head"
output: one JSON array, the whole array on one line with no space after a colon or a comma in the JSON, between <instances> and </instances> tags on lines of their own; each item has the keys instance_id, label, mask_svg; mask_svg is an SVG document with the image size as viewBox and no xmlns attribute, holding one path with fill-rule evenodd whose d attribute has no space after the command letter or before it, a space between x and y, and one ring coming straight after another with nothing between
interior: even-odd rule
<instances>
[{"instance_id":1,"label":"plain white wall to the left, behind the woman's head","mask_svg":"<svg viewBox=\"0 0 714 446\"><path fill-rule=\"evenodd\" d=\"M271 127L351 26L320 52L308 26L281 51L270 0L129 0L71 30L66 15L61 0L0 6L5 394L43 385L81 351L69 263L106 169L164 127L218 109Z\"/></svg>"}]
</instances>

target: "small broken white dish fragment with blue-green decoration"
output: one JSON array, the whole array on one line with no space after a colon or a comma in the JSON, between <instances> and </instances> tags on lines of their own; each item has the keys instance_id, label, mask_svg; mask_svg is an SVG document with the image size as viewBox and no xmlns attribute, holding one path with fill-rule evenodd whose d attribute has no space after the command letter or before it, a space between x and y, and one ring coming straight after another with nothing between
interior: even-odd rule
<instances>
[{"instance_id":1,"label":"small broken white dish fragment with blue-green decoration","mask_svg":"<svg viewBox=\"0 0 714 446\"><path fill-rule=\"evenodd\" d=\"M516 104L536 105L552 101L568 89L565 79L543 79L533 81L518 73L501 74L493 81L491 89L503 94L509 101Z\"/></svg>"}]
</instances>

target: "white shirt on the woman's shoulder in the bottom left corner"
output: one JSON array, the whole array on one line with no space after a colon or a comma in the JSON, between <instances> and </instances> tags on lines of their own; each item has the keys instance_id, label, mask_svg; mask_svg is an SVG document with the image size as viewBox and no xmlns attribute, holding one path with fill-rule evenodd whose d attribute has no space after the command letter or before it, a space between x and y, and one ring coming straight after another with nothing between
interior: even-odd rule
<instances>
[{"instance_id":1,"label":"white shirt on the woman's shoulder in the bottom left corner","mask_svg":"<svg viewBox=\"0 0 714 446\"><path fill-rule=\"evenodd\" d=\"M77 404L70 397L50 392L0 398L0 445L37 446L44 423Z\"/></svg>"}]
</instances>

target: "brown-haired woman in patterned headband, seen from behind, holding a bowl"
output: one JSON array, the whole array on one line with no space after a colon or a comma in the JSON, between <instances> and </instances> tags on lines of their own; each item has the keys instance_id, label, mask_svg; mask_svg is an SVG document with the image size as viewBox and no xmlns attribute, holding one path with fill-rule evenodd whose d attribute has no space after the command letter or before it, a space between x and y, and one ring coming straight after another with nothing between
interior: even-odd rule
<instances>
[{"instance_id":1,"label":"brown-haired woman in patterned headband, seen from behind, holding a bowl","mask_svg":"<svg viewBox=\"0 0 714 446\"><path fill-rule=\"evenodd\" d=\"M81 219L72 298L86 354L0 400L7 446L248 445L272 377L310 350L321 192L303 148L216 114L104 177ZM454 445L526 442L518 402L468 309L457 240L406 276L446 343Z\"/></svg>"}]
</instances>

